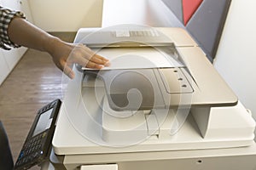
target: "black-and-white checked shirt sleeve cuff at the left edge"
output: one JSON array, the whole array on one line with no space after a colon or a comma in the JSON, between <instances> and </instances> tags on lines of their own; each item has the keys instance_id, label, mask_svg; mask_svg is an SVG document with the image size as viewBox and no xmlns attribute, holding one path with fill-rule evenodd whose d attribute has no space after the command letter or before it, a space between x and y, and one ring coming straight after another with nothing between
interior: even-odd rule
<instances>
[{"instance_id":1,"label":"black-and-white checked shirt sleeve cuff at the left edge","mask_svg":"<svg viewBox=\"0 0 256 170\"><path fill-rule=\"evenodd\" d=\"M20 47L20 45L10 41L7 33L9 23L15 17L26 19L25 14L20 11L10 10L9 8L3 8L0 6L0 48L10 49L9 47Z\"/></svg>"}]
</instances>

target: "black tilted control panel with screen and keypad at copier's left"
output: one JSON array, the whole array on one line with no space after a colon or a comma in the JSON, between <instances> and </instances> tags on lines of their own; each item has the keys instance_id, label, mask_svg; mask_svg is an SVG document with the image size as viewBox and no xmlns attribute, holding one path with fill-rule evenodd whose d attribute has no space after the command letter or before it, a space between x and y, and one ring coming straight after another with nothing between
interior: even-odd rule
<instances>
[{"instance_id":1,"label":"black tilted control panel with screen and keypad at copier's left","mask_svg":"<svg viewBox=\"0 0 256 170\"><path fill-rule=\"evenodd\" d=\"M55 99L38 111L15 163L15 170L28 169L47 160L61 100Z\"/></svg>"}]
</instances>

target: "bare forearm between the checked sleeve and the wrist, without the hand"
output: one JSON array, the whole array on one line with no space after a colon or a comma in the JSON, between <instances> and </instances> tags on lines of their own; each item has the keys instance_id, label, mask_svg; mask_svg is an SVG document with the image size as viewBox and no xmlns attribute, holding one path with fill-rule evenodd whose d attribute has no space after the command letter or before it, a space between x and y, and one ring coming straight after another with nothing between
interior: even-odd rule
<instances>
[{"instance_id":1,"label":"bare forearm between the checked sleeve and the wrist, without the hand","mask_svg":"<svg viewBox=\"0 0 256 170\"><path fill-rule=\"evenodd\" d=\"M20 46L34 48L40 51L51 53L54 43L61 41L57 37L49 35L47 32L33 26L28 21L15 17L9 24L9 39Z\"/></svg>"}]
</instances>

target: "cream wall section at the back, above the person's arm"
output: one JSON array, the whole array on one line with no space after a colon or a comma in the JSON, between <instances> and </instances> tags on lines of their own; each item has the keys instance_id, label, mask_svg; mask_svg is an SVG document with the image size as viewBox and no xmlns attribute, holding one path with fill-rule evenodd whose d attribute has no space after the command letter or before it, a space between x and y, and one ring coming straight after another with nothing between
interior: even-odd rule
<instances>
[{"instance_id":1,"label":"cream wall section at the back, above the person's arm","mask_svg":"<svg viewBox=\"0 0 256 170\"><path fill-rule=\"evenodd\" d=\"M103 0L29 0L34 24L44 31L102 26Z\"/></svg>"}]
</instances>

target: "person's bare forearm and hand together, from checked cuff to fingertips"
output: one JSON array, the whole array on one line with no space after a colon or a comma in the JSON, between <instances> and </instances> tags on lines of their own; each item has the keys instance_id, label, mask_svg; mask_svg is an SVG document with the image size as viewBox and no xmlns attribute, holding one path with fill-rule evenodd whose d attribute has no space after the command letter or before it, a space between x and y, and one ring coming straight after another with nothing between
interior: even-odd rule
<instances>
[{"instance_id":1,"label":"person's bare forearm and hand together, from checked cuff to fingertips","mask_svg":"<svg viewBox=\"0 0 256 170\"><path fill-rule=\"evenodd\" d=\"M95 54L90 48L63 42L20 17L15 17L9 23L8 36L16 44L49 53L55 65L70 78L74 77L71 69L73 63L96 69L108 63L108 59Z\"/></svg>"}]
</instances>

